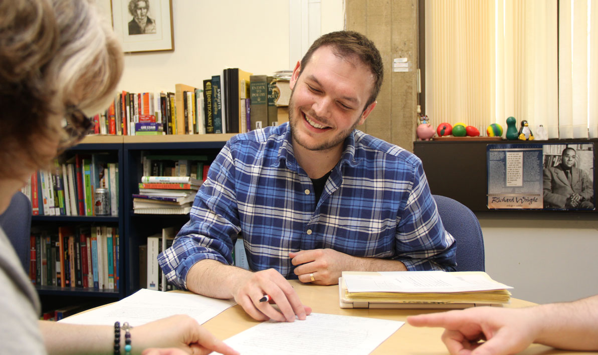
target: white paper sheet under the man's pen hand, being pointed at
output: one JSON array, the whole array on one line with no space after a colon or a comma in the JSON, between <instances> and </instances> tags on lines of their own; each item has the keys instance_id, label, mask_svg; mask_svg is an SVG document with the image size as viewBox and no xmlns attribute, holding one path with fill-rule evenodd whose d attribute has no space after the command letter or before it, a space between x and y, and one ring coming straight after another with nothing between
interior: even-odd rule
<instances>
[{"instance_id":1,"label":"white paper sheet under the man's pen hand, being pointed at","mask_svg":"<svg viewBox=\"0 0 598 355\"><path fill-rule=\"evenodd\" d=\"M224 342L241 354L369 354L405 322L312 313L306 320L263 322Z\"/></svg>"}]
</instances>

